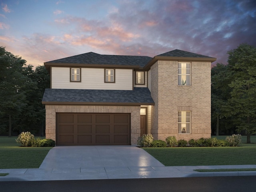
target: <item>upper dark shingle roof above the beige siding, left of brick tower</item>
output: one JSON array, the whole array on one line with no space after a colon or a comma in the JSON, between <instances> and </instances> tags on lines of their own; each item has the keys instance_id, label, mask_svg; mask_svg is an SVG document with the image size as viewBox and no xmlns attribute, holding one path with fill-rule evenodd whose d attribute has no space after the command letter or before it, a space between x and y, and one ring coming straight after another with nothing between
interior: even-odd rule
<instances>
[{"instance_id":1,"label":"upper dark shingle roof above the beige siding, left of brick tower","mask_svg":"<svg viewBox=\"0 0 256 192\"><path fill-rule=\"evenodd\" d=\"M94 52L53 60L48 63L128 65L144 67L152 58L148 56L101 55Z\"/></svg>"}]
</instances>

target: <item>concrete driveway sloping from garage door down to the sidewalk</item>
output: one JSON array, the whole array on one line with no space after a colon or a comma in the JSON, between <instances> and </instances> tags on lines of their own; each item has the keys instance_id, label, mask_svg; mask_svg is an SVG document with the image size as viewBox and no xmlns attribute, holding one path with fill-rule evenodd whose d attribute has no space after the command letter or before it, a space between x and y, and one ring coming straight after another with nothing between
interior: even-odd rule
<instances>
[{"instance_id":1,"label":"concrete driveway sloping from garage door down to the sidewalk","mask_svg":"<svg viewBox=\"0 0 256 192\"><path fill-rule=\"evenodd\" d=\"M164 166L143 149L135 146L56 146L40 168Z\"/></svg>"}]
</instances>

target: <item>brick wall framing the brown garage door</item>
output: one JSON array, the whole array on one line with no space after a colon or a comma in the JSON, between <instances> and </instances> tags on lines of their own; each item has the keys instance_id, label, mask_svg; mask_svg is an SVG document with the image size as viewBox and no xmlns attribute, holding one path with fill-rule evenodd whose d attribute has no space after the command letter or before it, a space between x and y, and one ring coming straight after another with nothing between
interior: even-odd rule
<instances>
[{"instance_id":1,"label":"brick wall framing the brown garage door","mask_svg":"<svg viewBox=\"0 0 256 192\"><path fill-rule=\"evenodd\" d=\"M46 138L56 141L56 113L130 113L131 144L140 136L140 106L46 105Z\"/></svg>"}]
</instances>

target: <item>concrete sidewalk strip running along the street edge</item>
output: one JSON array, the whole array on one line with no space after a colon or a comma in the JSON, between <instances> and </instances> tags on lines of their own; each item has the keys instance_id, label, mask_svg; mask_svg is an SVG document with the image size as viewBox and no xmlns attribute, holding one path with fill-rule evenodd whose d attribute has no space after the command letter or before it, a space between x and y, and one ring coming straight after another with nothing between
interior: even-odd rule
<instances>
[{"instance_id":1,"label":"concrete sidewalk strip running along the street edge","mask_svg":"<svg viewBox=\"0 0 256 192\"><path fill-rule=\"evenodd\" d=\"M256 171L204 173L194 171L195 169L223 168L256 168L256 165L1 169L0 173L9 173L9 175L1 176L0 181L96 180L256 175Z\"/></svg>"}]
</instances>

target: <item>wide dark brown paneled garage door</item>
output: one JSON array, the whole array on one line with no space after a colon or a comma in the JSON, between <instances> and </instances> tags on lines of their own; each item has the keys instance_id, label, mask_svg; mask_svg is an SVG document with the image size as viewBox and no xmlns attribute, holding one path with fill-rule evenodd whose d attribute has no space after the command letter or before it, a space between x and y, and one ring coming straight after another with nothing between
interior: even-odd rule
<instances>
[{"instance_id":1,"label":"wide dark brown paneled garage door","mask_svg":"<svg viewBox=\"0 0 256 192\"><path fill-rule=\"evenodd\" d=\"M130 114L56 114L56 145L130 144Z\"/></svg>"}]
</instances>

